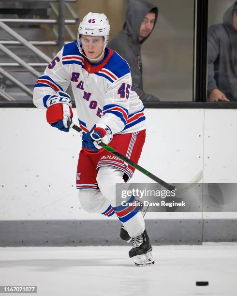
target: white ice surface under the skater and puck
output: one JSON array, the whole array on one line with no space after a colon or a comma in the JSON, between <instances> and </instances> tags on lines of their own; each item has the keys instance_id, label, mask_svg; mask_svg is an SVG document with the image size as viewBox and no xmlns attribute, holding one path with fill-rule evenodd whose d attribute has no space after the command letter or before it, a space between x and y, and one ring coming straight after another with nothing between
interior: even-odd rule
<instances>
[{"instance_id":1,"label":"white ice surface under the skater and puck","mask_svg":"<svg viewBox=\"0 0 237 296\"><path fill-rule=\"evenodd\" d=\"M0 285L37 285L27 294L37 296L237 296L236 243L155 246L155 265L145 267L133 264L129 249L0 248Z\"/></svg>"}]
</instances>

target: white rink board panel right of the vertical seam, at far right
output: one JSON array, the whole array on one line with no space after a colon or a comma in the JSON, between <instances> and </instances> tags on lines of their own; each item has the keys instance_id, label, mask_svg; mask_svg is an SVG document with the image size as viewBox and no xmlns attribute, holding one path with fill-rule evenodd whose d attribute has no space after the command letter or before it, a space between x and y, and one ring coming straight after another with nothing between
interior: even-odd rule
<instances>
[{"instance_id":1,"label":"white rink board panel right of the vertical seam, at far right","mask_svg":"<svg viewBox=\"0 0 237 296\"><path fill-rule=\"evenodd\" d=\"M206 109L203 182L237 182L237 110ZM204 212L203 219L236 219L237 212Z\"/></svg>"}]
</instances>

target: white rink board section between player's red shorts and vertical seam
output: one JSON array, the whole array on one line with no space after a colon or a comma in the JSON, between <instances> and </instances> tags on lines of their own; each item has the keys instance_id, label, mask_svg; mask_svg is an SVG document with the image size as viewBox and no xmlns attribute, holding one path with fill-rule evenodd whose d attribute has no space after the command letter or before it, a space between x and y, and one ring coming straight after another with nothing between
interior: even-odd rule
<instances>
[{"instance_id":1,"label":"white rink board section between player's red shorts and vertical seam","mask_svg":"<svg viewBox=\"0 0 237 296\"><path fill-rule=\"evenodd\" d=\"M139 164L166 182L188 182L203 169L200 109L146 109L147 137ZM133 182L154 182L136 172Z\"/></svg>"}]
</instances>

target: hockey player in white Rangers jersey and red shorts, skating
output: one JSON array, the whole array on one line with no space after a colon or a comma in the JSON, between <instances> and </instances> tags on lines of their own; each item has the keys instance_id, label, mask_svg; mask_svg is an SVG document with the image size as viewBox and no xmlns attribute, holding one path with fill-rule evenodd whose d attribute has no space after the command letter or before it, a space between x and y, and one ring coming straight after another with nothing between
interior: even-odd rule
<instances>
[{"instance_id":1,"label":"hockey player in white Rangers jersey and red shorts, skating","mask_svg":"<svg viewBox=\"0 0 237 296\"><path fill-rule=\"evenodd\" d=\"M71 84L79 125L85 132L79 153L76 187L83 207L90 213L116 213L133 248L136 265L154 264L152 247L140 208L118 206L116 183L126 182L134 169L98 145L105 144L138 162L145 142L144 106L131 89L127 62L106 47L110 25L104 14L89 13L79 25L77 42L66 44L34 86L34 104L46 108L51 126L68 132L72 102L65 92ZM130 202L134 200L131 197Z\"/></svg>"}]
</instances>

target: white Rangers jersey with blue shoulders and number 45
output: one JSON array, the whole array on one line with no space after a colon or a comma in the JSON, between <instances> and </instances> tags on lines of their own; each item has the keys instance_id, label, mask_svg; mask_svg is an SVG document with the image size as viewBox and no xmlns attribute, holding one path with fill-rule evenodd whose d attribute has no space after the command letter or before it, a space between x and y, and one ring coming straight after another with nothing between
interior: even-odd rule
<instances>
[{"instance_id":1,"label":"white Rangers jersey with blue shoulders and number 45","mask_svg":"<svg viewBox=\"0 0 237 296\"><path fill-rule=\"evenodd\" d=\"M144 106L131 89L129 65L112 49L106 48L104 59L91 65L76 42L64 45L37 80L34 104L47 108L49 96L66 91L70 83L84 131L90 131L98 122L108 125L113 134L145 129Z\"/></svg>"}]
</instances>

